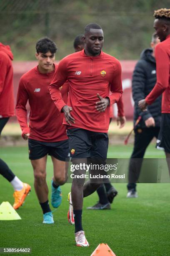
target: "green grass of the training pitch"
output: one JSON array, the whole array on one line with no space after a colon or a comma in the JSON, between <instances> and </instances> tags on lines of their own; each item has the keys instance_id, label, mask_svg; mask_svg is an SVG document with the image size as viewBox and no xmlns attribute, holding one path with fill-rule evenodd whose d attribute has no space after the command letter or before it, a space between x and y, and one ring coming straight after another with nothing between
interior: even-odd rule
<instances>
[{"instance_id":1,"label":"green grass of the training pitch","mask_svg":"<svg viewBox=\"0 0 170 256\"><path fill-rule=\"evenodd\" d=\"M109 157L128 158L132 146L110 146ZM146 157L164 157L150 145ZM40 256L90 256L99 243L107 243L117 256L169 256L170 184L138 184L138 198L126 198L126 184L116 184L118 196L112 210L89 211L87 206L97 201L97 194L84 199L83 228L89 248L77 248L74 227L67 222L67 193L71 184L62 187L63 201L53 212L54 225L42 224L42 212L33 188L33 172L27 147L2 147L0 157L32 191L23 207L17 210L22 220L0 221L0 247L32 249ZM47 183L50 187L52 163L47 162ZM0 176L0 202L13 204L13 188ZM13 255L13 254L10 254ZM17 255L17 254L15 254Z\"/></svg>"}]
</instances>

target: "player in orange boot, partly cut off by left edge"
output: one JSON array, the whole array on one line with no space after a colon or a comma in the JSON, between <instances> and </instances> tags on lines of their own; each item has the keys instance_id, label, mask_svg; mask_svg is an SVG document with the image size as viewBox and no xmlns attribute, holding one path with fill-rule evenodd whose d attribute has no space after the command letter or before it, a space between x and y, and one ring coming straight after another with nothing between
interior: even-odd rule
<instances>
[{"instance_id":1,"label":"player in orange boot, partly cut off by left edge","mask_svg":"<svg viewBox=\"0 0 170 256\"><path fill-rule=\"evenodd\" d=\"M5 124L14 115L13 53L10 46L0 43L0 135ZM13 186L14 209L18 209L30 192L30 185L23 183L0 159L0 174Z\"/></svg>"}]
</instances>

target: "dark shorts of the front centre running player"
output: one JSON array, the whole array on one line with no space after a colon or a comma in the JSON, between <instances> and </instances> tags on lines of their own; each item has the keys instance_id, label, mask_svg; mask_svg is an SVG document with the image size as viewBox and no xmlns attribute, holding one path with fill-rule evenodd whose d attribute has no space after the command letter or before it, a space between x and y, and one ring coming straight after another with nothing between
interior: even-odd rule
<instances>
[{"instance_id":1,"label":"dark shorts of the front centre running player","mask_svg":"<svg viewBox=\"0 0 170 256\"><path fill-rule=\"evenodd\" d=\"M67 130L71 158L107 158L108 135L81 128Z\"/></svg>"}]
</instances>

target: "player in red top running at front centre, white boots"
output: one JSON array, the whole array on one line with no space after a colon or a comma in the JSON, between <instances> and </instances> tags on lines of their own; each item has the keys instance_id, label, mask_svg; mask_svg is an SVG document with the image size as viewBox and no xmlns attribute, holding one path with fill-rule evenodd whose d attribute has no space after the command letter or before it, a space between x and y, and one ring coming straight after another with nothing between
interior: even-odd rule
<instances>
[{"instance_id":1,"label":"player in red top running at front centre, white boots","mask_svg":"<svg viewBox=\"0 0 170 256\"><path fill-rule=\"evenodd\" d=\"M86 247L89 243L82 228L83 197L92 194L100 186L101 180L90 180L84 184L85 179L79 179L77 175L86 173L86 168L81 164L87 164L87 159L92 164L105 163L109 106L122 96L122 82L120 62L102 52L102 28L96 23L88 24L83 41L84 50L60 61L50 84L50 94L58 110L65 114L63 123L68 126L72 164L79 166L74 172L69 194L69 219L70 223L75 223L76 245ZM68 105L63 101L59 89L66 80L69 83ZM94 174L94 171L91 170L91 173Z\"/></svg>"}]
</instances>

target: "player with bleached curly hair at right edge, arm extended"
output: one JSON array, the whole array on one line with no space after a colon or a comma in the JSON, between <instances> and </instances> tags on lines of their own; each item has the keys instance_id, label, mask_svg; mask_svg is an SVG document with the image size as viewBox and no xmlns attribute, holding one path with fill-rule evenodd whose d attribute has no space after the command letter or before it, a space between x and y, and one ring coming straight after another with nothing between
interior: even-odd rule
<instances>
[{"instance_id":1,"label":"player with bleached curly hair at right edge, arm extended","mask_svg":"<svg viewBox=\"0 0 170 256\"><path fill-rule=\"evenodd\" d=\"M147 105L163 94L157 146L164 148L170 172L170 9L156 10L154 16L154 28L161 42L155 48L157 82L145 100L139 101L139 107L145 111Z\"/></svg>"}]
</instances>

